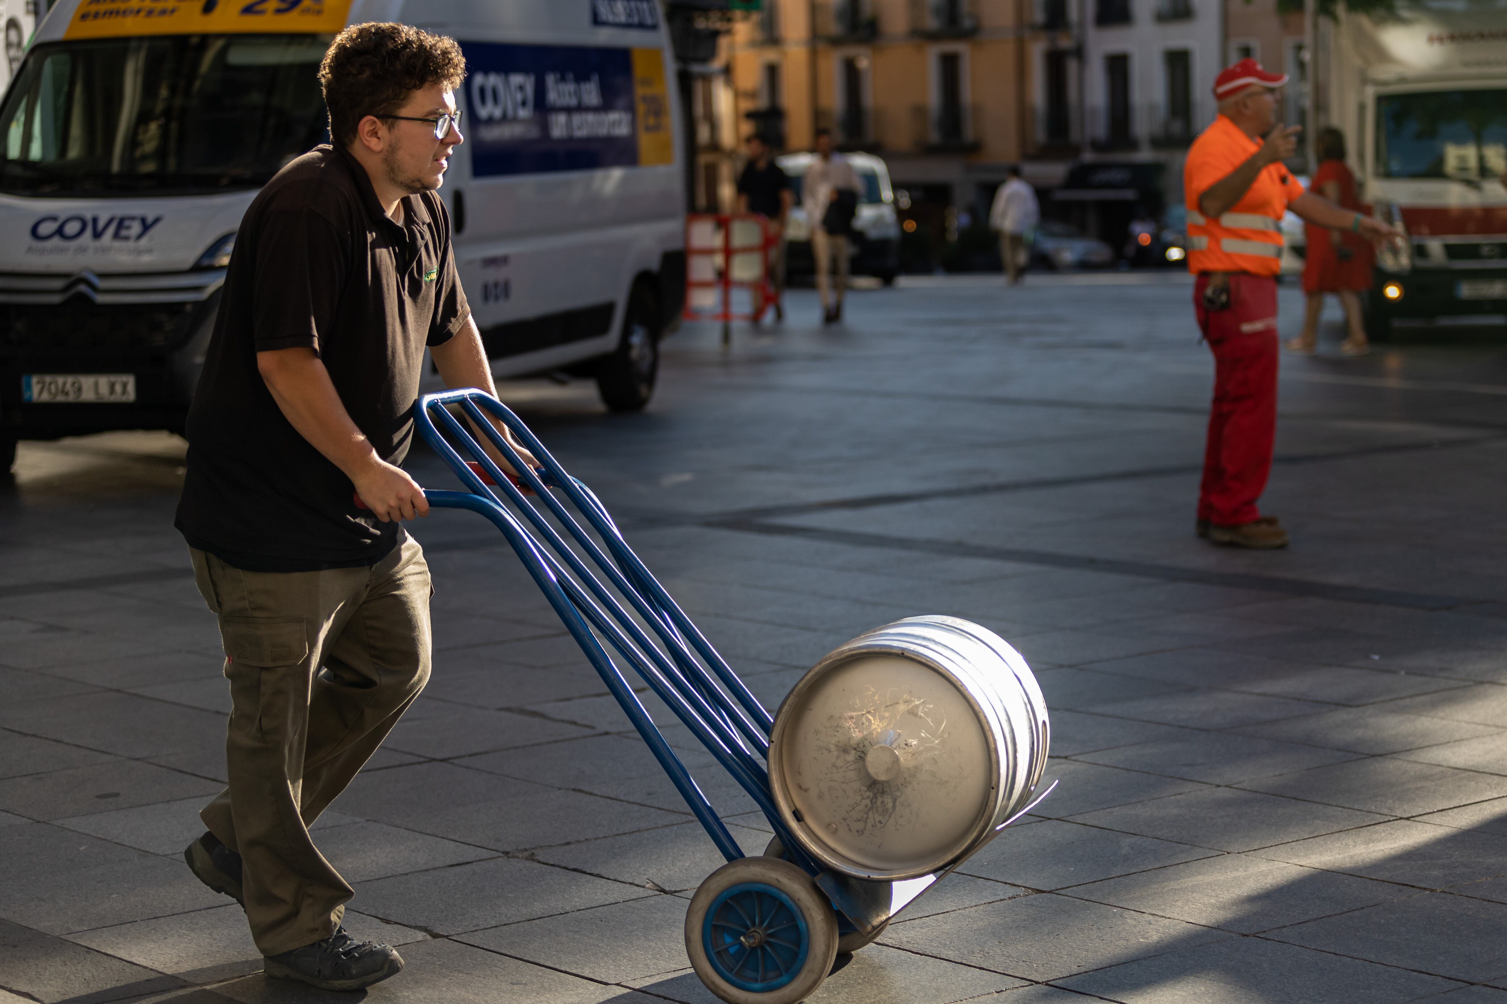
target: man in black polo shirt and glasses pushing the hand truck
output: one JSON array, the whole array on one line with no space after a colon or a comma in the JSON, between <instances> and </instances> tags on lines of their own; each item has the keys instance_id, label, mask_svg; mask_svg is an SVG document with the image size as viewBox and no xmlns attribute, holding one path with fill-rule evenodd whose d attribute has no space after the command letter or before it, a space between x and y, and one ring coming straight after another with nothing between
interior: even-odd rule
<instances>
[{"instance_id":1,"label":"man in black polo shirt and glasses pushing the hand truck","mask_svg":"<svg viewBox=\"0 0 1507 1004\"><path fill-rule=\"evenodd\" d=\"M414 27L335 38L332 145L246 211L188 413L176 526L232 710L229 785L184 856L244 906L267 975L326 990L402 968L345 933L351 886L309 826L429 675L429 570L399 526L428 504L398 466L425 347L448 386L494 392L436 194L464 72L454 39Z\"/></svg>"}]
</instances>

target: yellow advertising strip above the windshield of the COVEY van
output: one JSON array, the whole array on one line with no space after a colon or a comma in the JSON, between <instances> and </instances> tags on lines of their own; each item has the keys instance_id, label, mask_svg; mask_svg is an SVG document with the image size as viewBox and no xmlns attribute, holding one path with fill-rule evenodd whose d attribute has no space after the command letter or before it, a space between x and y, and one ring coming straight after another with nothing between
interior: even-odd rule
<instances>
[{"instance_id":1,"label":"yellow advertising strip above the windshield of the COVEY van","mask_svg":"<svg viewBox=\"0 0 1507 1004\"><path fill-rule=\"evenodd\" d=\"M63 38L333 35L351 0L78 0Z\"/></svg>"}]
</instances>

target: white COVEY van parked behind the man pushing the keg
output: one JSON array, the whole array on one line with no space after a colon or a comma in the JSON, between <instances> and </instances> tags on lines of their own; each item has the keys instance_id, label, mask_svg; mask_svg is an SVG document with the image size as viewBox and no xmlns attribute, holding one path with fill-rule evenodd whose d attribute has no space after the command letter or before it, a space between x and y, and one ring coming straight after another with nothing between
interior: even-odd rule
<instances>
[{"instance_id":1,"label":"white COVEY van parked behind the man pushing the keg","mask_svg":"<svg viewBox=\"0 0 1507 1004\"><path fill-rule=\"evenodd\" d=\"M17 437L182 427L241 216L326 140L315 71L363 21L466 53L442 194L494 372L648 403L686 276L654 0L62 0L0 106L0 470Z\"/></svg>"}]
</instances>

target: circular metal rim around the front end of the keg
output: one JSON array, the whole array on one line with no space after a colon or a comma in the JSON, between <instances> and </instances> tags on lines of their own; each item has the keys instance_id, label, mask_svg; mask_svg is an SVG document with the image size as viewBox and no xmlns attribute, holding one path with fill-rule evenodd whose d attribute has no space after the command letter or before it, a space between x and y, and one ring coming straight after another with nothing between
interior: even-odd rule
<instances>
[{"instance_id":1,"label":"circular metal rim around the front end of the keg","mask_svg":"<svg viewBox=\"0 0 1507 1004\"><path fill-rule=\"evenodd\" d=\"M814 686L814 683L818 678L821 678L826 672L835 669L842 663L851 662L859 656L883 656L883 654L904 656L907 659L915 659L916 662L924 663L933 672L937 672L942 677L949 678L952 681L952 686L967 701L969 709L972 709L974 718L978 721L978 727L986 734L995 734L998 730L989 721L989 715L980 706L978 698L974 696L969 687L960 686L960 681L952 678L951 675L952 671L949 666L942 665L942 662L937 660L922 645L907 644L907 641L901 641L897 638L880 639L885 632L889 632L894 627L900 627L906 621L915 623L918 620L921 618L906 618L904 621L895 621L894 624L885 624L883 627L876 627L870 632L859 635L853 641L844 642L842 645L833 648L817 665L814 665L809 671L806 671L806 675L803 675L796 683L794 687L790 689L790 693L785 695L785 699L779 702L779 710L775 713L775 727L773 730L770 730L770 737L769 737L770 752L767 761L769 788L775 800L775 808L779 811L781 820L790 829L791 835L800 841L800 849L805 850L808 855L811 855L815 861L832 868L833 871L838 871L841 874L848 874L857 879L900 882L904 879L918 879L924 874L934 874L937 871L945 871L951 862L961 859L977 844L986 843L987 838L992 835L990 831L995 820L995 808L996 808L995 802L998 800L999 787L1002 784L998 749L989 758L989 772L990 772L989 790L992 793L992 797L987 799L983 807L980 807L978 816L975 817L974 823L969 825L966 835L957 843L954 843L946 850L945 856L942 856L940 861L909 868L870 868L857 861L853 861L851 858L838 853L824 841L814 838L812 837L814 831L809 826L806 826L806 823L799 822L796 819L794 816L796 805L794 799L790 794L790 788L785 784L785 773L782 767L775 763L776 758L779 757L781 740L790 722L790 716L785 715L785 709L790 707L791 701L800 699L800 696L808 689L811 689L811 686Z\"/></svg>"}]
</instances>

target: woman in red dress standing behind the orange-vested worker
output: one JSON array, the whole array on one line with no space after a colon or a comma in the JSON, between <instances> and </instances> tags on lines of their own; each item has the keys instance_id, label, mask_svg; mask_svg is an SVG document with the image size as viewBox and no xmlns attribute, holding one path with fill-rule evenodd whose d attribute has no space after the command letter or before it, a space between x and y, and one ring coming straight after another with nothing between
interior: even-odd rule
<instances>
[{"instance_id":1,"label":"woman in red dress standing behind the orange-vested worker","mask_svg":"<svg viewBox=\"0 0 1507 1004\"><path fill-rule=\"evenodd\" d=\"M1355 175L1344 166L1344 134L1337 128L1319 133L1319 170L1308 184L1331 202L1361 213L1361 200L1355 194ZM1359 217L1356 217L1359 219ZM1364 356L1371 351L1365 341L1365 326L1361 321L1361 292L1371 288L1371 244L1359 234L1329 231L1308 225L1308 253L1304 261L1304 292L1308 297L1304 317L1304 333L1287 342L1288 351L1313 356L1319 345L1319 315L1323 312L1326 292L1338 294L1344 308L1344 321L1350 336L1340 342L1346 356Z\"/></svg>"}]
</instances>

